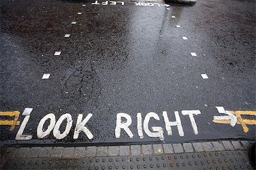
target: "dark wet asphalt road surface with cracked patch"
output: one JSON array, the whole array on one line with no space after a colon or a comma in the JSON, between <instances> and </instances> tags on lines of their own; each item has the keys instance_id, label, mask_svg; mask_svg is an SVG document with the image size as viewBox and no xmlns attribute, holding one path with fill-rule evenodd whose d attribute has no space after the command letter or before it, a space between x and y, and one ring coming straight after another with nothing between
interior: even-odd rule
<instances>
[{"instance_id":1,"label":"dark wet asphalt road surface with cracked patch","mask_svg":"<svg viewBox=\"0 0 256 170\"><path fill-rule=\"evenodd\" d=\"M172 136L164 130L164 142L255 138L253 125L245 134L241 125L212 122L219 115L215 106L255 110L254 1L198 0L194 6L170 4L170 10L135 6L139 1L125 1L123 6L92 2L0 2L0 111L34 108L24 130L33 138L24 143L159 142L137 134L136 114L144 118L150 111L160 121L151 120L149 126L163 128L162 111L170 114L170 121L174 111L180 113L184 136L172 127ZM55 51L61 55L54 56ZM49 79L42 79L44 73L51 73ZM181 110L201 111L195 116L198 135ZM115 139L116 115L121 112L131 115L132 139L123 131ZM43 140L36 137L40 119L49 113L56 118L72 115L66 138L56 140L52 132ZM94 135L91 140L83 132L73 140L80 113L93 114L86 123ZM12 132L9 128L0 126L1 142L23 143L15 141L19 126Z\"/></svg>"}]
</instances>

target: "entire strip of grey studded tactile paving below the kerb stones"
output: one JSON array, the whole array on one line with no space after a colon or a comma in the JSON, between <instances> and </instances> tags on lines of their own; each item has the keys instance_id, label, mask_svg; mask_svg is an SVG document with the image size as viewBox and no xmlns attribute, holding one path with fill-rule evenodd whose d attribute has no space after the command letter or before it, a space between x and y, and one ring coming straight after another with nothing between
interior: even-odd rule
<instances>
[{"instance_id":1,"label":"entire strip of grey studded tactile paving below the kerb stones","mask_svg":"<svg viewBox=\"0 0 256 170\"><path fill-rule=\"evenodd\" d=\"M253 169L243 151L151 156L105 156L81 159L14 158L3 169Z\"/></svg>"}]
</instances>

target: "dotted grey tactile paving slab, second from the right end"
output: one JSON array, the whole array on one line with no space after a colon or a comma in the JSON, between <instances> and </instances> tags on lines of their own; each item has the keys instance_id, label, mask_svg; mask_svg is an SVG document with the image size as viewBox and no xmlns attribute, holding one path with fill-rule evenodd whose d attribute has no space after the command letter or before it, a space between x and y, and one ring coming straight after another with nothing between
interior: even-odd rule
<instances>
[{"instance_id":1,"label":"dotted grey tactile paving slab, second from the right end","mask_svg":"<svg viewBox=\"0 0 256 170\"><path fill-rule=\"evenodd\" d=\"M207 169L200 153L166 155L166 158L169 169Z\"/></svg>"}]
</instances>

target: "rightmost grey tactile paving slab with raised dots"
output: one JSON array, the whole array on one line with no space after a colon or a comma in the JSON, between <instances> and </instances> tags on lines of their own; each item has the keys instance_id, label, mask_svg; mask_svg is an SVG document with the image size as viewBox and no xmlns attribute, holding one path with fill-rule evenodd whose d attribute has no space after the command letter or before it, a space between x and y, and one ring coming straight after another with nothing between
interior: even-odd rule
<instances>
[{"instance_id":1,"label":"rightmost grey tactile paving slab with raised dots","mask_svg":"<svg viewBox=\"0 0 256 170\"><path fill-rule=\"evenodd\" d=\"M253 169L244 152L203 152L208 169ZM247 164L248 163L248 164Z\"/></svg>"}]
</instances>

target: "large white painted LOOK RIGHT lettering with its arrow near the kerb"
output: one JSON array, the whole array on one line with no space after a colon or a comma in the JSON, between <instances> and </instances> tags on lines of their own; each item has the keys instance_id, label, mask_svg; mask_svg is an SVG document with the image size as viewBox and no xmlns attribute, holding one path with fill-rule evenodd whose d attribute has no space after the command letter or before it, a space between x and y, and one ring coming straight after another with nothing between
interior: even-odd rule
<instances>
[{"instance_id":1,"label":"large white painted LOOK RIGHT lettering with its arrow near the kerb","mask_svg":"<svg viewBox=\"0 0 256 170\"><path fill-rule=\"evenodd\" d=\"M221 109L221 110L219 110L219 112L222 112L223 111L222 109L224 109L221 107L222 106L216 106L216 108ZM30 109L32 109L32 108L30 108ZM198 135L199 131L198 131L197 125L196 125L195 115L200 115L201 114L200 110L181 110L181 114L184 116L188 115L188 117L191 121L193 133L195 135ZM233 113L233 111L225 111L225 114L226 115L224 115L224 116L213 117L213 121L230 121L228 123L230 123L231 126L235 126L238 121L238 117ZM250 115L254 115L254 114L255 113L251 113ZM178 111L175 111L174 114L169 114L169 117L171 117L172 115L175 115L175 119L176 119L175 121L169 120L167 111L163 111L162 115L163 115L163 121L165 124L165 129L166 129L168 135L172 135L171 126L177 126L179 136L184 136L184 131L183 131L183 127L181 125L180 115L179 115ZM87 127L85 127L86 123L89 121L89 119L91 117L92 117L92 114L89 113L84 118L84 120L82 120L82 114L78 115L76 127L75 127L74 134L73 134L74 140L79 138L79 134L81 131L83 131L85 133L85 135L88 137L88 139L93 139L92 132L90 132ZM149 136L151 138L159 138L160 140L164 140L164 135L163 135L164 128L163 127L161 127L161 126L148 127L150 120L152 120L151 118L155 119L156 121L160 121L159 115L154 112L147 113L146 116L144 117L144 121L142 119L142 114L137 113L137 132L138 132L139 138L143 139L143 130L144 130L144 132L147 134L147 136ZM26 128L26 125L27 125L27 122L29 119L30 119L30 115L26 115L26 117L23 119L22 125L20 126L18 133L16 134L16 138L15 138L16 140L31 140L32 139L32 135L23 135L24 128ZM44 124L46 123L46 121L48 119L50 119L50 123L49 124L47 123L48 127L44 127ZM61 133L59 128L65 119L67 120L67 124L65 126L64 132ZM126 121L122 121L122 119L126 119ZM71 114L66 113L66 114L61 115L61 117L58 119L57 122L56 122L56 118L55 118L54 114L52 114L52 113L47 114L40 120L40 122L38 124L37 136L39 139L47 138L47 136L51 133L51 131L53 131L53 136L55 136L56 139L63 139L69 134L69 131L71 130L71 127L72 127L72 123L73 123L73 120L72 120ZM121 129L125 130L126 134L130 138L133 138L133 136L134 136L133 132L131 132L131 130L129 128L131 123L132 123L132 119L129 114L118 113L117 117L116 117L115 138L120 138ZM256 125L256 123L254 123L254 122L249 122L247 124L248 125ZM46 128L46 130L44 128Z\"/></svg>"}]
</instances>

